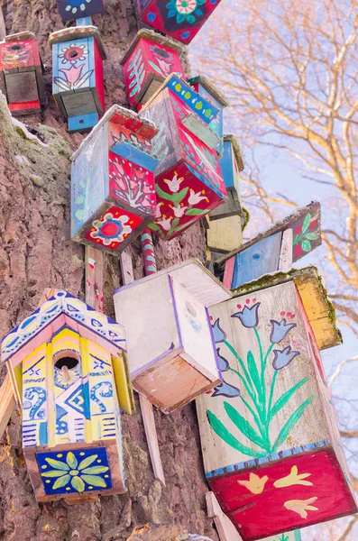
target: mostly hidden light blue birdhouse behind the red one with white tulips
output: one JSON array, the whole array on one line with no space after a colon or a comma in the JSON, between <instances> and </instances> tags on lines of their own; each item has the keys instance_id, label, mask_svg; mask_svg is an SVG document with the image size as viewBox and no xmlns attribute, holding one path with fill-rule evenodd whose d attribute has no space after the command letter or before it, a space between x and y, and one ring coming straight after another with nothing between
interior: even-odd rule
<instances>
[{"instance_id":1,"label":"mostly hidden light blue birdhouse behind the red one with white tulips","mask_svg":"<svg viewBox=\"0 0 358 541\"><path fill-rule=\"evenodd\" d=\"M219 110L218 114L211 121L209 126L220 139L220 142L216 147L216 151L219 156L222 156L224 152L224 109L230 104L225 96L219 90L217 90L217 88L214 87L214 85L206 77L198 76L190 78L188 79L188 83L194 88L194 90L197 91L199 96L205 97L209 104L214 105L216 109Z\"/></svg>"}]
</instances>

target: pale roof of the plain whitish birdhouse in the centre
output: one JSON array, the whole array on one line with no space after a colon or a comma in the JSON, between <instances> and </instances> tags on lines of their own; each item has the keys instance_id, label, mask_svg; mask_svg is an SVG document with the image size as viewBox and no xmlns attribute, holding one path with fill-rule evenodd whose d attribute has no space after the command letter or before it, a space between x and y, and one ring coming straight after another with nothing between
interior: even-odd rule
<instances>
[{"instance_id":1,"label":"pale roof of the plain whitish birdhouse in the centre","mask_svg":"<svg viewBox=\"0 0 358 541\"><path fill-rule=\"evenodd\" d=\"M188 289L188 292L206 307L211 307L231 298L231 293L225 289L223 284L195 258L146 276L142 280L135 280L122 288L115 289L115 294L124 289L135 288L135 286L143 282L155 280L163 274L170 274L174 280L179 282L180 286Z\"/></svg>"}]
</instances>

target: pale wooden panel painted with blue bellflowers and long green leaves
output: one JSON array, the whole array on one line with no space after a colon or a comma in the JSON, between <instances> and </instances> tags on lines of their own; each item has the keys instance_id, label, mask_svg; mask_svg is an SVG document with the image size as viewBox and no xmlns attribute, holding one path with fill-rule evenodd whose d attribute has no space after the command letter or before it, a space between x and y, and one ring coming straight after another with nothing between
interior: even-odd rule
<instances>
[{"instance_id":1,"label":"pale wooden panel painted with blue bellflowers and long green leaves","mask_svg":"<svg viewBox=\"0 0 358 541\"><path fill-rule=\"evenodd\" d=\"M207 476L329 443L293 282L211 307L210 315L224 381L198 399Z\"/></svg>"}]
</instances>

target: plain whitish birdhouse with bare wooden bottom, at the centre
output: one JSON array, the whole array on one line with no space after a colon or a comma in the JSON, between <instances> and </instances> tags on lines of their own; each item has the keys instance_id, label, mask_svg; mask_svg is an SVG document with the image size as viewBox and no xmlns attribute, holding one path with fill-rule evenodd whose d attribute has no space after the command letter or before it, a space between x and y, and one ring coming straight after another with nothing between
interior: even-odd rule
<instances>
[{"instance_id":1,"label":"plain whitish birdhouse with bare wooden bottom, at the centre","mask_svg":"<svg viewBox=\"0 0 358 541\"><path fill-rule=\"evenodd\" d=\"M133 388L164 413L182 408L220 382L207 306L230 294L197 260L115 290L126 332Z\"/></svg>"}]
</instances>

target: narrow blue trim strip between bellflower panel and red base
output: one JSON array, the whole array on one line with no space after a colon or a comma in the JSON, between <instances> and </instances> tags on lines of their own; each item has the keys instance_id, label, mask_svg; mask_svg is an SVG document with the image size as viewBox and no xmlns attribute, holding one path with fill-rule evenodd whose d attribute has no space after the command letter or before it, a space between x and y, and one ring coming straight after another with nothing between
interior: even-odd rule
<instances>
[{"instance_id":1,"label":"narrow blue trim strip between bellflower panel and red base","mask_svg":"<svg viewBox=\"0 0 358 541\"><path fill-rule=\"evenodd\" d=\"M241 463L230 464L225 466L225 468L218 468L212 472L207 472L205 476L207 479L212 479L214 477L219 477L221 475L226 475L231 472L239 472L240 470L249 470L251 468L256 468L265 463L276 462L282 458L287 458L289 456L295 456L298 454L308 453L309 451L317 451L322 447L331 445L330 439L326 438L314 442L313 444L299 445L298 447L292 447L291 449L285 449L284 451L279 451L279 453L268 454L267 456L262 456L261 458L254 458Z\"/></svg>"}]
</instances>

